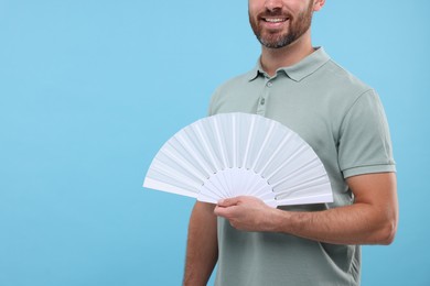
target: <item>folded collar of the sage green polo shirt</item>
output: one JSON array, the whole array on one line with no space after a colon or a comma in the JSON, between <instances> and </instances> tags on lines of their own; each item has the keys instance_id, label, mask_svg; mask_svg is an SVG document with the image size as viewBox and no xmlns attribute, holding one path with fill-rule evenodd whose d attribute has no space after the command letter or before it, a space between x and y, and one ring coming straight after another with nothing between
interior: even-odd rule
<instances>
[{"instance_id":1,"label":"folded collar of the sage green polo shirt","mask_svg":"<svg viewBox=\"0 0 430 286\"><path fill-rule=\"evenodd\" d=\"M315 52L304 57L299 63L289 67L281 67L277 70L277 73L282 70L292 80L300 81L307 76L313 74L316 69L319 69L329 61L330 61L330 56L325 53L324 48L316 47ZM252 81L259 75L265 75L265 74L266 74L265 70L261 68L260 59L258 59L257 65L254 67L252 70L248 73L247 78L249 81Z\"/></svg>"}]
</instances>

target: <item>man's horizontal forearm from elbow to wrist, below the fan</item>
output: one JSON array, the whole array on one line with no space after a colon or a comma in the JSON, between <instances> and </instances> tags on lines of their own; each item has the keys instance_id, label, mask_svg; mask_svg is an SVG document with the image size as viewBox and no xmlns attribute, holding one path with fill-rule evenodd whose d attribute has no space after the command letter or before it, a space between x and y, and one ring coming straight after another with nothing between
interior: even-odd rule
<instances>
[{"instance_id":1,"label":"man's horizontal forearm from elbow to wrist, below the fan","mask_svg":"<svg viewBox=\"0 0 430 286\"><path fill-rule=\"evenodd\" d=\"M396 232L395 221L366 204L315 212L278 210L273 218L272 231L333 244L389 244Z\"/></svg>"}]
</instances>

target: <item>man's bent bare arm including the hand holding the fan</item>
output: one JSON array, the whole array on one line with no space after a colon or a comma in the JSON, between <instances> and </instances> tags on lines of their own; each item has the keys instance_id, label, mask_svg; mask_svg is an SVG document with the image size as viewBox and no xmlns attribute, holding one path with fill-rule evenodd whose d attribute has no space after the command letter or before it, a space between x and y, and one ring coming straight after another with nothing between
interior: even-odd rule
<instances>
[{"instance_id":1,"label":"man's bent bare arm including the hand holding the fan","mask_svg":"<svg viewBox=\"0 0 430 286\"><path fill-rule=\"evenodd\" d=\"M256 198L237 197L219 201L215 215L240 230L284 232L334 244L390 244L398 221L396 174L354 176L347 184L355 196L351 206L283 211Z\"/></svg>"}]
</instances>

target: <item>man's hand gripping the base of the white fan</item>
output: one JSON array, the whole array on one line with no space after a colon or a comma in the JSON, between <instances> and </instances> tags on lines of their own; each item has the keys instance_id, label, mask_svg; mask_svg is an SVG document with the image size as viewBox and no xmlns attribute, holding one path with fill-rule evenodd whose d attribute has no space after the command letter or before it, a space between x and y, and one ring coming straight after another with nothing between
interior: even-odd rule
<instances>
[{"instance_id":1,"label":"man's hand gripping the base of the white fan","mask_svg":"<svg viewBox=\"0 0 430 286\"><path fill-rule=\"evenodd\" d=\"M258 198L240 196L218 201L214 212L238 230L273 231L273 211Z\"/></svg>"}]
</instances>

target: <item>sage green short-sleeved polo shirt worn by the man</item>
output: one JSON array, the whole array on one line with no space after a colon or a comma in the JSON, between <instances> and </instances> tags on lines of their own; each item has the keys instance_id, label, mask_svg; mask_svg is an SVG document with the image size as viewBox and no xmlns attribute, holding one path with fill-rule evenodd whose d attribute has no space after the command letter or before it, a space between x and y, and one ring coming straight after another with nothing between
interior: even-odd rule
<instances>
[{"instance_id":1,"label":"sage green short-sleeved polo shirt worn by the man","mask_svg":"<svg viewBox=\"0 0 430 286\"><path fill-rule=\"evenodd\" d=\"M374 89L335 64L322 47L268 76L258 64L214 94L209 114L248 112L277 120L320 156L333 204L283 207L324 210L353 204L350 176L395 172L383 106ZM361 248L282 233L244 232L218 219L216 285L359 285Z\"/></svg>"}]
</instances>

